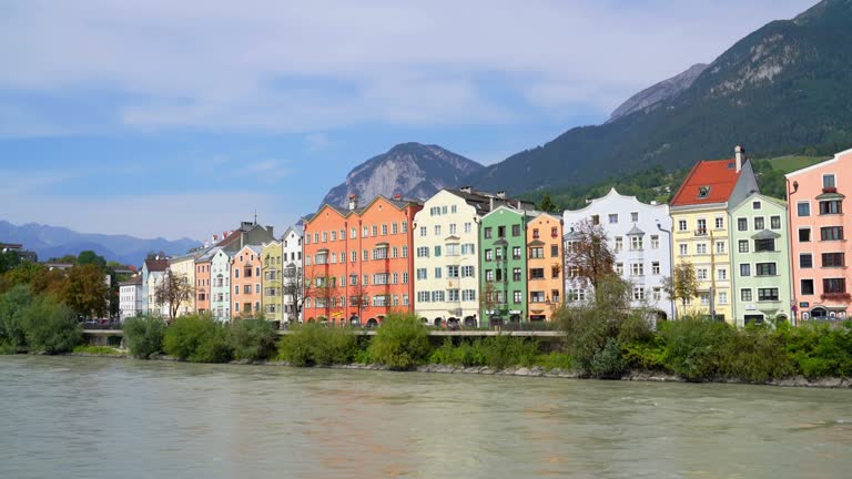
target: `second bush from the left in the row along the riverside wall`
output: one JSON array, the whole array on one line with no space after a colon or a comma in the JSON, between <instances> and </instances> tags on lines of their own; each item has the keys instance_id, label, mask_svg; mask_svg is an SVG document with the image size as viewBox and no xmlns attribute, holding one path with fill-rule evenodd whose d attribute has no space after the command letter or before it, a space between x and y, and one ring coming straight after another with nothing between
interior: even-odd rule
<instances>
[{"instance_id":1,"label":"second bush from the left in the row along the riverside wall","mask_svg":"<svg viewBox=\"0 0 852 479\"><path fill-rule=\"evenodd\" d=\"M227 363L233 357L225 327L210 317L181 316L166 329L163 349L192 363Z\"/></svg>"}]
</instances>

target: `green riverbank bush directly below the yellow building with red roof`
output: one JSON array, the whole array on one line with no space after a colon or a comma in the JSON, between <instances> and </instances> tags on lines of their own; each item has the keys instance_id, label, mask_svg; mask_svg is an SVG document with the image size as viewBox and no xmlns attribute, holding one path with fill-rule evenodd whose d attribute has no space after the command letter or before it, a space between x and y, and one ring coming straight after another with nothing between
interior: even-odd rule
<instances>
[{"instance_id":1,"label":"green riverbank bush directly below the yellow building with red roof","mask_svg":"<svg viewBox=\"0 0 852 479\"><path fill-rule=\"evenodd\" d=\"M711 379L721 373L722 349L733 329L724 323L701 319L668 322L661 328L666 342L663 361L683 379Z\"/></svg>"}]
</instances>

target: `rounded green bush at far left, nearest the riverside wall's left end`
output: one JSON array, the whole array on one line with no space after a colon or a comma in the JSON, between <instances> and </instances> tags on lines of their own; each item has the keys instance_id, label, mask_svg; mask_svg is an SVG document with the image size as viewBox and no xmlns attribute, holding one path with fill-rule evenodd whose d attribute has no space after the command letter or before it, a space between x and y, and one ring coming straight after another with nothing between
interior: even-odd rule
<instances>
[{"instance_id":1,"label":"rounded green bush at far left, nearest the riverside wall's left end","mask_svg":"<svg viewBox=\"0 0 852 479\"><path fill-rule=\"evenodd\" d=\"M31 351L70 353L83 342L83 330L74 312L51 296L38 296L21 312L21 319Z\"/></svg>"}]
</instances>

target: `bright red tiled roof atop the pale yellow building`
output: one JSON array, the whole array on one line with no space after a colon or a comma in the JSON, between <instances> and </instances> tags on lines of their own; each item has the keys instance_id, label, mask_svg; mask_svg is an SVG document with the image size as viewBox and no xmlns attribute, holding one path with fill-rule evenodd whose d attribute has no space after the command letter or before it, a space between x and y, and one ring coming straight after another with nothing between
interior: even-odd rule
<instances>
[{"instance_id":1,"label":"bright red tiled roof atop the pale yellow building","mask_svg":"<svg viewBox=\"0 0 852 479\"><path fill-rule=\"evenodd\" d=\"M733 193L740 173L734 160L700 161L683 180L670 206L724 203ZM709 187L706 194L704 188Z\"/></svg>"}]
</instances>

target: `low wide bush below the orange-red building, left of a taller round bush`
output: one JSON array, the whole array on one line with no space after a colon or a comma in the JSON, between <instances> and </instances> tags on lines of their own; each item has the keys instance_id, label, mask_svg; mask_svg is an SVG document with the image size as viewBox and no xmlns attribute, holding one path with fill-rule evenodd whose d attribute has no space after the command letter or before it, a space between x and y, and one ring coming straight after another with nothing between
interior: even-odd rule
<instances>
[{"instance_id":1,"label":"low wide bush below the orange-red building, left of a taller round bush","mask_svg":"<svg viewBox=\"0 0 852 479\"><path fill-rule=\"evenodd\" d=\"M348 364L359 355L358 340L351 329L315 323L291 329L281 338L278 351L278 358L293 366ZM361 354L357 359L365 361L367 358Z\"/></svg>"}]
</instances>

